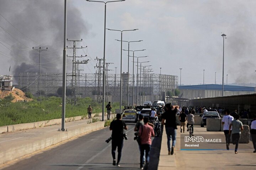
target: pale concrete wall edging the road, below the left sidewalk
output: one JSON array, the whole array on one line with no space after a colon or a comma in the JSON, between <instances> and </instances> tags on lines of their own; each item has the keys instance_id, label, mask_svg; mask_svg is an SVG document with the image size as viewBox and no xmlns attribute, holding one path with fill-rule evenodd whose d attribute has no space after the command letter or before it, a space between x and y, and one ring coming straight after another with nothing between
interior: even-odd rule
<instances>
[{"instance_id":1,"label":"pale concrete wall edging the road, below the left sidewalk","mask_svg":"<svg viewBox=\"0 0 256 170\"><path fill-rule=\"evenodd\" d=\"M13 146L5 152L1 152L1 147L4 146L0 146L0 164L37 152L49 146L56 145L59 142L69 140L72 137L82 135L86 132L103 128L104 123L105 121L98 121L91 124L82 124L80 126L76 126L73 130L63 132L57 132L56 130L57 133L54 133L53 135L44 134L38 139L33 139L27 143L21 143L20 145Z\"/></svg>"}]
</instances>

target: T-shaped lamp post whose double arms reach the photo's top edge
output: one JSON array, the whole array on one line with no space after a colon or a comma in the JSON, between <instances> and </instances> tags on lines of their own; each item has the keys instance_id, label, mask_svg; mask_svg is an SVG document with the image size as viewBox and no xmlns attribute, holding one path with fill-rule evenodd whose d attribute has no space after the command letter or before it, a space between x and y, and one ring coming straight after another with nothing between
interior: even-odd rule
<instances>
[{"instance_id":1,"label":"T-shaped lamp post whose double arms reach the photo's top edge","mask_svg":"<svg viewBox=\"0 0 256 170\"><path fill-rule=\"evenodd\" d=\"M103 1L91 1L91 0L86 0L89 2L103 2ZM104 17L104 51L103 51L103 94L102 94L102 121L104 121L104 109L105 109L105 47L106 47L106 7L108 2L119 2L119 1L125 1L125 0L117 0L117 1L107 1L103 2L105 4L105 17ZM122 56L122 52L121 52ZM122 66L121 66L122 67ZM120 108L121 112L121 108Z\"/></svg>"}]
</instances>

